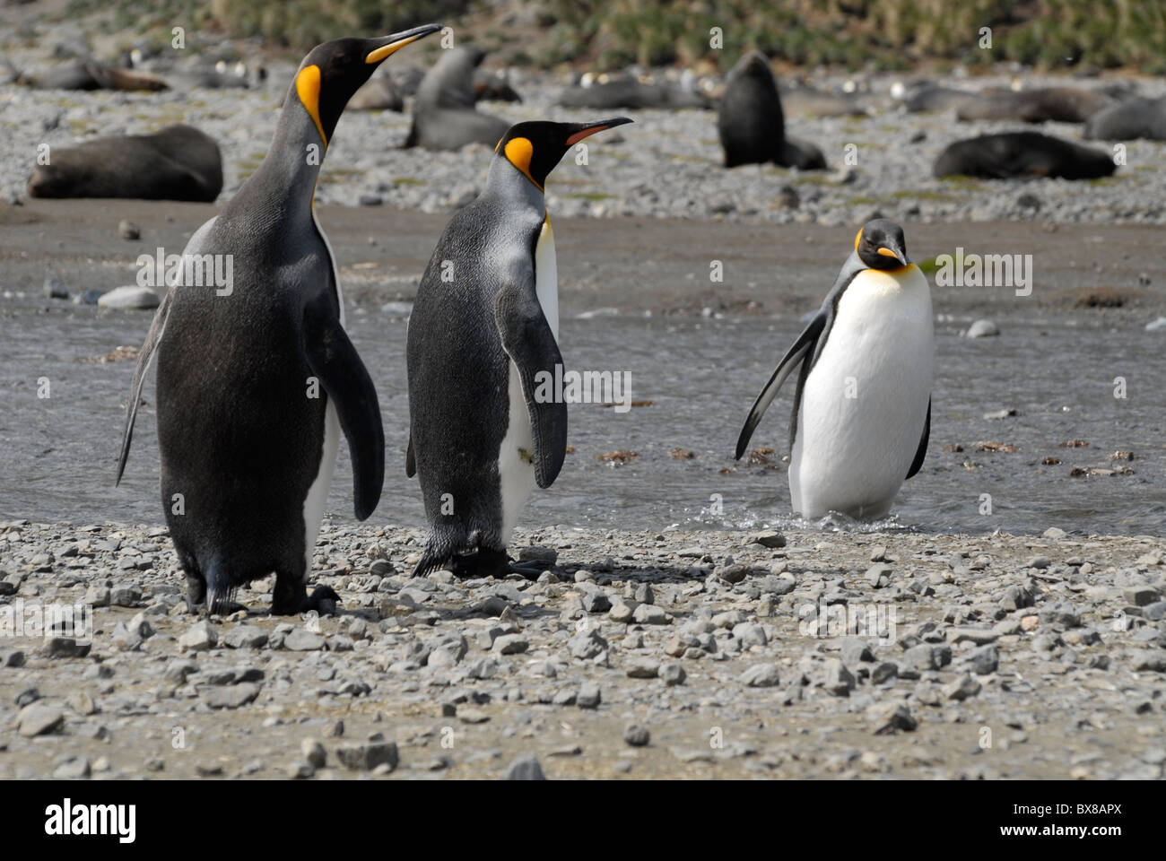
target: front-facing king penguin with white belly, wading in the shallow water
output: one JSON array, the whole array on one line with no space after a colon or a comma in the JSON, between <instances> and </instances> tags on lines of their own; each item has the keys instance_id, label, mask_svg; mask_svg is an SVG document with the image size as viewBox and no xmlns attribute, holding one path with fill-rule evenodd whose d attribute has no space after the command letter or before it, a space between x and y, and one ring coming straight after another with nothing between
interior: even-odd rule
<instances>
[{"instance_id":1,"label":"front-facing king penguin with white belly, wading in the shallow water","mask_svg":"<svg viewBox=\"0 0 1166 861\"><path fill-rule=\"evenodd\" d=\"M923 466L935 360L930 287L907 259L902 228L868 222L826 301L778 364L737 441L795 368L789 497L806 518L886 516Z\"/></svg>"}]
</instances>

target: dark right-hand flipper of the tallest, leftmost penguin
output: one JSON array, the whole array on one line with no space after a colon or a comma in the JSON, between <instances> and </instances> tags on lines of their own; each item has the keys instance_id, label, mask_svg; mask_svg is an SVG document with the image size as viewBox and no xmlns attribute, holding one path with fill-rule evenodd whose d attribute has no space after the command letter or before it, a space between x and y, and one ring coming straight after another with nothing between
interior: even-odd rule
<instances>
[{"instance_id":1,"label":"dark right-hand flipper of the tallest, leftmost penguin","mask_svg":"<svg viewBox=\"0 0 1166 861\"><path fill-rule=\"evenodd\" d=\"M385 484L385 428L377 388L324 294L304 308L304 352L312 373L336 405L352 455L352 496L366 520Z\"/></svg>"}]
</instances>

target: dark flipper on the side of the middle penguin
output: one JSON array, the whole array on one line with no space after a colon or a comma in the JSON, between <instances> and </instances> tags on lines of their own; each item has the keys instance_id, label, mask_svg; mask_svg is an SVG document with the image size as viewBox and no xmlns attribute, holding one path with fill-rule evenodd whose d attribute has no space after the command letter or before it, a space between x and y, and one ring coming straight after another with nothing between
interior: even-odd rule
<instances>
[{"instance_id":1,"label":"dark flipper on the side of the middle penguin","mask_svg":"<svg viewBox=\"0 0 1166 861\"><path fill-rule=\"evenodd\" d=\"M535 482L540 488L549 488L567 457L567 404L557 398L546 402L535 398L535 376L546 372L554 379L555 366L563 364L563 356L539 304L534 272L529 267L498 292L494 324L501 336L503 349L518 368L522 382L534 439Z\"/></svg>"}]
</instances>

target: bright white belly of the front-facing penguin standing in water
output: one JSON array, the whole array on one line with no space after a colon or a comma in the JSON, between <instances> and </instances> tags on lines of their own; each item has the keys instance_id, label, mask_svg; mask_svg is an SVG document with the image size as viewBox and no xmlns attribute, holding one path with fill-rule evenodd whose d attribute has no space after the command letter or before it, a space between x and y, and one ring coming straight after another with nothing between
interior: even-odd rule
<instances>
[{"instance_id":1,"label":"bright white belly of the front-facing penguin standing in water","mask_svg":"<svg viewBox=\"0 0 1166 861\"><path fill-rule=\"evenodd\" d=\"M919 448L934 356L919 268L858 274L802 392L789 460L794 511L863 519L890 511Z\"/></svg>"}]
</instances>

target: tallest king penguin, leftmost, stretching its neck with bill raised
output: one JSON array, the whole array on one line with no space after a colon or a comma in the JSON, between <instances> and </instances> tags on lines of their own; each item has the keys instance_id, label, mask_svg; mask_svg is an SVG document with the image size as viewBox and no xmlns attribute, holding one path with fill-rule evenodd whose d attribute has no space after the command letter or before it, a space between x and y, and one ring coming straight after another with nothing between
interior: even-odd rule
<instances>
[{"instance_id":1,"label":"tallest king penguin, leftmost, stretching its neck with bill raised","mask_svg":"<svg viewBox=\"0 0 1166 861\"><path fill-rule=\"evenodd\" d=\"M183 254L230 262L230 284L202 286L188 266L154 317L134 369L118 481L156 352L162 505L191 607L230 609L239 586L271 572L273 614L336 600L326 587L308 597L305 583L342 428L357 518L380 501L377 390L344 331L314 197L349 98L381 61L438 29L338 38L308 54L267 158Z\"/></svg>"}]
</instances>

